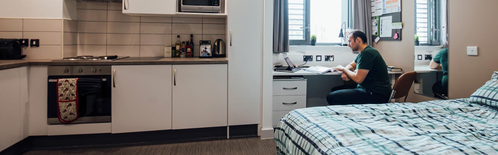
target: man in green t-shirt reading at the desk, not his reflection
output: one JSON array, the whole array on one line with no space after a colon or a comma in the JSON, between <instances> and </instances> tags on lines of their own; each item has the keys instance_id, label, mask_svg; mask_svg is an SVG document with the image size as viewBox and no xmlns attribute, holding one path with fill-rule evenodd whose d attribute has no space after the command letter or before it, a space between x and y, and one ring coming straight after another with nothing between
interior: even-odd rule
<instances>
[{"instance_id":1,"label":"man in green t-shirt reading at the desk, not his reflection","mask_svg":"<svg viewBox=\"0 0 498 155\"><path fill-rule=\"evenodd\" d=\"M351 32L348 46L360 54L348 66L339 65L334 69L343 72L343 80L352 79L359 84L332 88L332 92L327 95L327 102L330 105L387 103L392 89L380 53L367 44L367 35L360 30ZM356 69L358 71L355 73Z\"/></svg>"}]
</instances>

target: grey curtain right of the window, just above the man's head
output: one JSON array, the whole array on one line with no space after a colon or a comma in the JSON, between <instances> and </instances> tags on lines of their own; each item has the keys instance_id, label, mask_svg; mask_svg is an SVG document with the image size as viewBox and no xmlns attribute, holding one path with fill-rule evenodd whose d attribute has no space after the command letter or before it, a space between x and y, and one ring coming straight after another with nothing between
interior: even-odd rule
<instances>
[{"instance_id":1,"label":"grey curtain right of the window, just above the man's head","mask_svg":"<svg viewBox=\"0 0 498 155\"><path fill-rule=\"evenodd\" d=\"M372 8L370 0L353 0L353 28L367 34L367 44L372 45Z\"/></svg>"}]
</instances>

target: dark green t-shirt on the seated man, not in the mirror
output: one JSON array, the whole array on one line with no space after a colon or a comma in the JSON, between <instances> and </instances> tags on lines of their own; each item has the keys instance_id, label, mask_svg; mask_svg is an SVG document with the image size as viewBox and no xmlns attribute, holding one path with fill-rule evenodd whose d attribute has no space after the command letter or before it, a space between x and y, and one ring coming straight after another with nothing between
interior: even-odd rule
<instances>
[{"instance_id":1,"label":"dark green t-shirt on the seated man, not in the mirror","mask_svg":"<svg viewBox=\"0 0 498 155\"><path fill-rule=\"evenodd\" d=\"M380 53L371 46L367 46L355 59L356 68L369 70L365 80L358 84L358 88L367 89L373 93L389 97L391 95L391 81L387 74L387 65Z\"/></svg>"}]
</instances>

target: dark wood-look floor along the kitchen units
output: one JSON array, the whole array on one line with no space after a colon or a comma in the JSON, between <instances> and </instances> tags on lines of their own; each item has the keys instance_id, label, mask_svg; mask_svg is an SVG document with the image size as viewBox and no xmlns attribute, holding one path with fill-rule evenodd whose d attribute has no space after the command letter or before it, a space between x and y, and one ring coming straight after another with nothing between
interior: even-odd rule
<instances>
[{"instance_id":1,"label":"dark wood-look floor along the kitchen units","mask_svg":"<svg viewBox=\"0 0 498 155\"><path fill-rule=\"evenodd\" d=\"M36 150L24 155L276 155L273 139L259 137L111 148Z\"/></svg>"}]
</instances>

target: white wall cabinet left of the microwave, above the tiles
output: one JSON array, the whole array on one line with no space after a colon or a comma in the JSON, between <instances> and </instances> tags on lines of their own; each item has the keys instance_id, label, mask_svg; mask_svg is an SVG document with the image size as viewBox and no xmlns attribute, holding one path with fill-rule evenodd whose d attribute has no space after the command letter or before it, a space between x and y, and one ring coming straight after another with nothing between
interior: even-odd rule
<instances>
[{"instance_id":1,"label":"white wall cabinet left of the microwave, above the tiles","mask_svg":"<svg viewBox=\"0 0 498 155\"><path fill-rule=\"evenodd\" d=\"M177 0L123 0L123 13L140 14L170 14L176 13Z\"/></svg>"}]
</instances>

